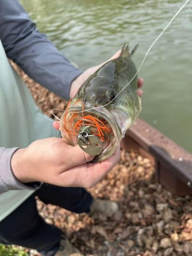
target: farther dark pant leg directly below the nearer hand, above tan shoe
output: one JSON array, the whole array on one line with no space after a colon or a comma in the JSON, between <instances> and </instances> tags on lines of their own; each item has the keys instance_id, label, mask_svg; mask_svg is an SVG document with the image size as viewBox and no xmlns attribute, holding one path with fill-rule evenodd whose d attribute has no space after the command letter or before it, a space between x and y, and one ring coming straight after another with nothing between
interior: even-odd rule
<instances>
[{"instance_id":1,"label":"farther dark pant leg directly below the nearer hand, above tan shoe","mask_svg":"<svg viewBox=\"0 0 192 256\"><path fill-rule=\"evenodd\" d=\"M75 213L88 213L92 196L83 188L43 184L35 193L44 203L58 205Z\"/></svg>"}]
</instances>

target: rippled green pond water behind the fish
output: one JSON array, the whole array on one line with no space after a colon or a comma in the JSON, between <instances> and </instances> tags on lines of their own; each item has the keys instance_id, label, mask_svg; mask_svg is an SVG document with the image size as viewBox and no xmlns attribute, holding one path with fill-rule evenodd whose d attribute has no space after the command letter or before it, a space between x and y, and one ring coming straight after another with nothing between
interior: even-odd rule
<instances>
[{"instance_id":1,"label":"rippled green pond water behind the fish","mask_svg":"<svg viewBox=\"0 0 192 256\"><path fill-rule=\"evenodd\" d=\"M108 60L123 43L140 66L150 45L185 1L20 0L38 30L82 70ZM140 118L192 153L192 1L152 47ZM57 106L55 106L57 108Z\"/></svg>"}]
</instances>

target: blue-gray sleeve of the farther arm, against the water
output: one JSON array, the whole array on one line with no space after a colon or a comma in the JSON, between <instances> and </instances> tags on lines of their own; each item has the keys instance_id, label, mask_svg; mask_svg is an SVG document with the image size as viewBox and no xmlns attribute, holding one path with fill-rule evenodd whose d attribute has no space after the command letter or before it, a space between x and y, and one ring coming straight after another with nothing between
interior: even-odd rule
<instances>
[{"instance_id":1,"label":"blue-gray sleeve of the farther arm, against the water","mask_svg":"<svg viewBox=\"0 0 192 256\"><path fill-rule=\"evenodd\" d=\"M0 38L8 58L60 97L69 98L72 80L80 73L36 29L18 0L0 0Z\"/></svg>"}]
</instances>

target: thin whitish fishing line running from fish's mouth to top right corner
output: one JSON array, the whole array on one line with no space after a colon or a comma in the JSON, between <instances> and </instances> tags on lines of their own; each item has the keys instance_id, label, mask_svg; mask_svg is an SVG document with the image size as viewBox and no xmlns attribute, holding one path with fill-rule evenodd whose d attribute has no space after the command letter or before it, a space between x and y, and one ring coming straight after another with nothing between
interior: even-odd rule
<instances>
[{"instance_id":1,"label":"thin whitish fishing line running from fish's mouth to top right corner","mask_svg":"<svg viewBox=\"0 0 192 256\"><path fill-rule=\"evenodd\" d=\"M136 75L138 74L139 70L141 69L141 67L143 66L144 64L144 61L148 55L148 53L150 52L150 49L153 47L153 45L156 43L156 41L162 36L162 34L165 32L165 30L167 30L167 28L169 27L169 25L173 22L174 18L180 13L180 11L186 6L186 4L189 2L189 0L186 0L186 2L180 7L180 9L174 14L173 18L171 18L171 20L168 22L168 24L166 25L166 27L162 30L162 32L159 34L158 37L156 37L155 41L151 44L150 48L147 50L145 56L144 56L144 59L143 61L141 62L141 65L140 67L138 68L138 71L135 73L135 75L133 76L133 78L129 81L129 83L127 85L125 85L125 87L123 87L123 89L120 90L120 92L118 92L118 94L114 97L117 98L120 93L125 90L125 88L132 82L132 80L136 77ZM112 99L109 103L105 104L105 105L102 105L102 106L98 106L98 107L94 107L94 108L91 108L91 109L88 109L88 110L84 110L84 111L89 111L89 110L94 110L94 109L97 109L97 108L101 108L101 107L105 107L107 106L108 104L111 104L114 99ZM79 111L78 113L81 113L83 111Z\"/></svg>"}]
</instances>

